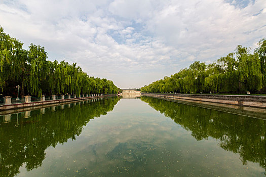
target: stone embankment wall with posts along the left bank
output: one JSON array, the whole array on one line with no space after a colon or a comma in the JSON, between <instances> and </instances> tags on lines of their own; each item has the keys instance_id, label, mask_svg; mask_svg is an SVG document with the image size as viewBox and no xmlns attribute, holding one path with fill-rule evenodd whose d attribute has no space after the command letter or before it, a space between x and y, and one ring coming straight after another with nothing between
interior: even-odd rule
<instances>
[{"instance_id":1,"label":"stone embankment wall with posts along the left bank","mask_svg":"<svg viewBox=\"0 0 266 177\"><path fill-rule=\"evenodd\" d=\"M52 104L65 104L67 102L77 102L77 101L85 101L95 98L102 98L102 97L111 97L111 96L117 96L117 94L93 94L93 96L89 97L80 97L80 98L69 98L69 99L60 99L60 100L49 100L49 101L38 101L38 102L27 102L27 103L17 103L17 104L11 104L11 102L8 102L10 104L0 105L0 112L5 110L11 110L11 109L21 109L21 108L28 108L28 107L40 107L43 105L52 105Z\"/></svg>"}]
</instances>

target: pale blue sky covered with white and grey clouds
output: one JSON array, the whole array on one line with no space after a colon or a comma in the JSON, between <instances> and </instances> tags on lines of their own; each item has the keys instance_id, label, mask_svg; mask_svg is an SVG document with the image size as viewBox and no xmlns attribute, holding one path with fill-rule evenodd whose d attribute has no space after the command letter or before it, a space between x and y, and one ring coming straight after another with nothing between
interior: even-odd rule
<instances>
[{"instance_id":1,"label":"pale blue sky covered with white and grey clouds","mask_svg":"<svg viewBox=\"0 0 266 177\"><path fill-rule=\"evenodd\" d=\"M121 89L140 88L193 62L257 48L265 0L3 1L0 25L48 60L77 62Z\"/></svg>"}]
</instances>

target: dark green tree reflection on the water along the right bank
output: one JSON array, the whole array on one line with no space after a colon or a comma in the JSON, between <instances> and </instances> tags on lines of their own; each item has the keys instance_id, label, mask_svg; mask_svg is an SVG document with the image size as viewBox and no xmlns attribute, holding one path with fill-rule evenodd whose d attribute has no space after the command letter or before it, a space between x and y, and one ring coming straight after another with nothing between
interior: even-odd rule
<instances>
[{"instance_id":1,"label":"dark green tree reflection on the water along the right bank","mask_svg":"<svg viewBox=\"0 0 266 177\"><path fill-rule=\"evenodd\" d=\"M239 153L243 164L257 162L266 169L266 120L150 97L141 100L192 131L196 140L215 138L224 150Z\"/></svg>"}]
</instances>

